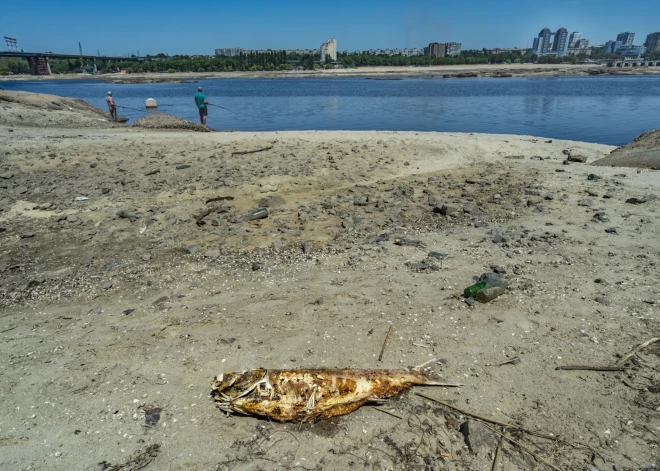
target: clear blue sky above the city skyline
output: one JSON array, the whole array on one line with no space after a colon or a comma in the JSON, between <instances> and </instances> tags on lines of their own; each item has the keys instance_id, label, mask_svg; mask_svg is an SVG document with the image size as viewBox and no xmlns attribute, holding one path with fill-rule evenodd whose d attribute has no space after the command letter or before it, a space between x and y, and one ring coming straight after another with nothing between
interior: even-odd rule
<instances>
[{"instance_id":1,"label":"clear blue sky above the city skyline","mask_svg":"<svg viewBox=\"0 0 660 471\"><path fill-rule=\"evenodd\" d=\"M660 1L639 0L8 0L0 35L25 51L213 54L216 47L340 50L423 47L456 41L464 49L531 47L538 32L563 26L592 44L622 31L635 44L660 31ZM4 44L0 47L4 49Z\"/></svg>"}]
</instances>

